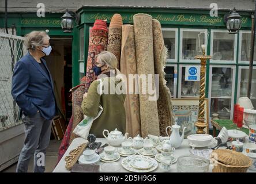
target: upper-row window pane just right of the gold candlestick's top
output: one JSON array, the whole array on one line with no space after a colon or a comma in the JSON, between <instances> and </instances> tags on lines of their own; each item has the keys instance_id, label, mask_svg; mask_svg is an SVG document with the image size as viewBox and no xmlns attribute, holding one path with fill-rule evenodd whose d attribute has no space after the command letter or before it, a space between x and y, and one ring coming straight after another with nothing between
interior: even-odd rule
<instances>
[{"instance_id":1,"label":"upper-row window pane just right of the gold candlestick's top","mask_svg":"<svg viewBox=\"0 0 256 184\"><path fill-rule=\"evenodd\" d=\"M235 35L213 33L213 60L234 60Z\"/></svg>"}]
</instances>

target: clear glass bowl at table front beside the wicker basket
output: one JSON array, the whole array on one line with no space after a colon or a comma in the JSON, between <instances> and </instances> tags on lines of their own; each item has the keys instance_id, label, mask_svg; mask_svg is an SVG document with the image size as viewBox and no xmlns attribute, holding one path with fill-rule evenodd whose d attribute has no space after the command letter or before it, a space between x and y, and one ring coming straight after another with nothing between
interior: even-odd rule
<instances>
[{"instance_id":1,"label":"clear glass bowl at table front beside the wicker basket","mask_svg":"<svg viewBox=\"0 0 256 184\"><path fill-rule=\"evenodd\" d=\"M177 171L179 173L207 173L209 165L209 160L202 157L183 155L178 158Z\"/></svg>"}]
</instances>

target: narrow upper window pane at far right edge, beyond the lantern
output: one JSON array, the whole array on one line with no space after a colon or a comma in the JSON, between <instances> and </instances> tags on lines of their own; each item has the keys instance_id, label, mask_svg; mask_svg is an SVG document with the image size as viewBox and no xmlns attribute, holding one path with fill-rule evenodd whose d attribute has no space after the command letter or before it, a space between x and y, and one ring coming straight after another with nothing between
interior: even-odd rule
<instances>
[{"instance_id":1,"label":"narrow upper window pane at far right edge, beyond the lantern","mask_svg":"<svg viewBox=\"0 0 256 184\"><path fill-rule=\"evenodd\" d=\"M242 43L241 43L241 61L250 60L250 50L251 50L251 33L242 34ZM256 58L256 47L254 47L254 60Z\"/></svg>"}]
</instances>

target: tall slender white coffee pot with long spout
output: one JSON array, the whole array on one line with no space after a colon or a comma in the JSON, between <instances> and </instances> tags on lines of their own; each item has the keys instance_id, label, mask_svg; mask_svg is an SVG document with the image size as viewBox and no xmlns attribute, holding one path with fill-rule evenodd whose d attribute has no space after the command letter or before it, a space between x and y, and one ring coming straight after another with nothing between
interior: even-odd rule
<instances>
[{"instance_id":1,"label":"tall slender white coffee pot with long spout","mask_svg":"<svg viewBox=\"0 0 256 184\"><path fill-rule=\"evenodd\" d=\"M170 136L170 141L171 141L172 146L175 147L175 148L180 147L180 145L182 144L182 141L184 139L185 129L187 127L183 128L182 136L181 137L179 135L180 126L177 125L177 122L175 122L175 125L172 125L172 127L168 126L168 127L165 128L165 132L167 133L167 135L168 135L168 132L167 132L168 128L171 128L171 131L172 131L171 136Z\"/></svg>"}]
</instances>

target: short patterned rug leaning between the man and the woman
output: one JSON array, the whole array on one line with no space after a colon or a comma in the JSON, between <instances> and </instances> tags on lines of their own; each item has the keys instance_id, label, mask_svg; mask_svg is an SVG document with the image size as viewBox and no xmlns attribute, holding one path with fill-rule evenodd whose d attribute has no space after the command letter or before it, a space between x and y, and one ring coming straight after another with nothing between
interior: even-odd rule
<instances>
[{"instance_id":1,"label":"short patterned rug leaning between the man and the woman","mask_svg":"<svg viewBox=\"0 0 256 184\"><path fill-rule=\"evenodd\" d=\"M72 124L69 143L71 143L73 139L79 137L76 134L74 134L73 131L77 127L77 125L84 119L81 105L82 105L83 95L85 93L85 83L86 83L86 76L84 76L84 78L81 79L80 85L73 87L73 89L70 90L72 92L73 124Z\"/></svg>"}]
</instances>

